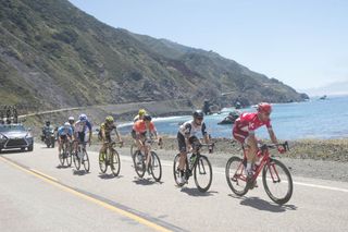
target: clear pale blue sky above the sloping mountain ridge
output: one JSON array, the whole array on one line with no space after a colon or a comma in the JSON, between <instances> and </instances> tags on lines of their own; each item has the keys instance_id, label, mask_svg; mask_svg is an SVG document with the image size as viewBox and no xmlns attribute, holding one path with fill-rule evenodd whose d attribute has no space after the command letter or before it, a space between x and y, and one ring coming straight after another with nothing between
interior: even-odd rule
<instances>
[{"instance_id":1,"label":"clear pale blue sky above the sloping mountain ridge","mask_svg":"<svg viewBox=\"0 0 348 232\"><path fill-rule=\"evenodd\" d=\"M113 27L237 61L303 90L348 82L347 0L70 0Z\"/></svg>"}]
</instances>

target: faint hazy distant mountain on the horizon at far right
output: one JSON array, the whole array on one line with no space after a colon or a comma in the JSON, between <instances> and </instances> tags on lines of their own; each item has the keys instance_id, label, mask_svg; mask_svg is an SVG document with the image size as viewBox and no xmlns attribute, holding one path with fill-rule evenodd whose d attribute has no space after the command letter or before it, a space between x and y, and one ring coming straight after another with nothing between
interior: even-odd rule
<instances>
[{"instance_id":1,"label":"faint hazy distant mountain on the horizon at far right","mask_svg":"<svg viewBox=\"0 0 348 232\"><path fill-rule=\"evenodd\" d=\"M310 96L348 95L348 81L337 82L319 88L303 89Z\"/></svg>"}]
</instances>

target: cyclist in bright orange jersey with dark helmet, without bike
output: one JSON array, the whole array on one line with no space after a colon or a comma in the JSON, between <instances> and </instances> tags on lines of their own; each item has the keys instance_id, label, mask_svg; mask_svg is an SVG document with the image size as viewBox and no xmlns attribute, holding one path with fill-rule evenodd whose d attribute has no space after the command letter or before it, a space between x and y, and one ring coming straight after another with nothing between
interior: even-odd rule
<instances>
[{"instance_id":1,"label":"cyclist in bright orange jersey with dark helmet, without bike","mask_svg":"<svg viewBox=\"0 0 348 232\"><path fill-rule=\"evenodd\" d=\"M154 136L154 139L160 142L160 138L158 137L157 130L154 127L153 122L151 122L152 118L149 114L145 114L142 117L142 120L138 120L136 123L133 125L133 130L136 133L136 144L138 146L138 149L145 154L148 155L149 152L149 147L146 146L146 142L152 136ZM150 161L150 156L147 156L146 160L146 170L148 170Z\"/></svg>"}]
</instances>

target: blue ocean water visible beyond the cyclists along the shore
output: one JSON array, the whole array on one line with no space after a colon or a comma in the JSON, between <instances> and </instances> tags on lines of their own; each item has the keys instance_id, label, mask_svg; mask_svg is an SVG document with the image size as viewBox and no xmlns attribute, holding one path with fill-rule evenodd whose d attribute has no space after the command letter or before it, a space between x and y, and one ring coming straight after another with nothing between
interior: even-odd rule
<instances>
[{"instance_id":1,"label":"blue ocean water visible beyond the cyclists along the shore","mask_svg":"<svg viewBox=\"0 0 348 232\"><path fill-rule=\"evenodd\" d=\"M229 111L223 109L220 114L204 117L208 132L212 137L232 136L232 125L219 125ZM250 107L243 112L256 112ZM176 135L178 124L190 120L191 115L169 117L154 119L154 125L159 134ZM302 138L341 138L348 137L348 96L327 97L326 100L312 98L304 102L275 103L271 114L273 130L279 139L302 139ZM122 134L130 131L132 123L119 125ZM257 131L257 136L268 138L264 126Z\"/></svg>"}]
</instances>

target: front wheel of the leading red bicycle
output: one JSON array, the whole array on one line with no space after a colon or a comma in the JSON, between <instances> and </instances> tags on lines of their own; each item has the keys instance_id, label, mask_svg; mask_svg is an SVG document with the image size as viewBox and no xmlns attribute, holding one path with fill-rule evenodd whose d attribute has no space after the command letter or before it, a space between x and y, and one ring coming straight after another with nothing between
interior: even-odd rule
<instances>
[{"instance_id":1,"label":"front wheel of the leading red bicycle","mask_svg":"<svg viewBox=\"0 0 348 232\"><path fill-rule=\"evenodd\" d=\"M293 179L289 170L278 160L271 159L262 170L262 183L269 197L276 204L287 203L293 195Z\"/></svg>"}]
</instances>

